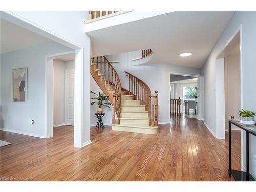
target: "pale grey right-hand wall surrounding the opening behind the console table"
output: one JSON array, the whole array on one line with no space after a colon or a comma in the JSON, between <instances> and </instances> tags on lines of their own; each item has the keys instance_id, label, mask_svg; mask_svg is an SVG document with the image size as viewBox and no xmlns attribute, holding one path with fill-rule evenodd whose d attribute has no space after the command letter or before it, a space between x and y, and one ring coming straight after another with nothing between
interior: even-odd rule
<instances>
[{"instance_id":1,"label":"pale grey right-hand wall surrounding the opening behind the console table","mask_svg":"<svg viewBox=\"0 0 256 192\"><path fill-rule=\"evenodd\" d=\"M210 129L215 129L215 76L216 76L216 58L225 48L227 42L233 35L238 32L239 27L241 31L241 102L243 109L256 111L256 12L255 11L237 11L231 18L228 26L222 33L220 39L212 49L208 59L206 60L202 69L202 75L205 79L205 122ZM245 148L244 148L244 133L242 142L242 165L245 164ZM250 173L252 173L252 156L256 155L256 139L250 136ZM256 176L255 176L256 177Z\"/></svg>"}]
</instances>

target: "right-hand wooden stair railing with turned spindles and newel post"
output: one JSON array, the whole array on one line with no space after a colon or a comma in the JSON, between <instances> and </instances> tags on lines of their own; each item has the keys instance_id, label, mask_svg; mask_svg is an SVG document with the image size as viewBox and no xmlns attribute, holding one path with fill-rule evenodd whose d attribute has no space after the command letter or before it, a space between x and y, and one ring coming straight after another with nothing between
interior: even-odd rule
<instances>
[{"instance_id":1,"label":"right-hand wooden stair railing with turned spindles and newel post","mask_svg":"<svg viewBox=\"0 0 256 192\"><path fill-rule=\"evenodd\" d=\"M140 100L140 104L145 105L145 111L148 111L148 125L158 125L158 91L155 95L151 95L151 90L147 84L138 77L126 72L129 76L129 95L134 95L136 100Z\"/></svg>"}]
</instances>

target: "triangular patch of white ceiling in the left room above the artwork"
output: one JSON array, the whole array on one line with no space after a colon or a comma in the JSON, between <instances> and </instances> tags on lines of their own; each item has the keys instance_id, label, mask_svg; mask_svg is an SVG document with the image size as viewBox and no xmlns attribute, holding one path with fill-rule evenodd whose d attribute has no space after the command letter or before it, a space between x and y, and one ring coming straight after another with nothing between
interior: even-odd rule
<instances>
[{"instance_id":1,"label":"triangular patch of white ceiling in the left room above the artwork","mask_svg":"<svg viewBox=\"0 0 256 192\"><path fill-rule=\"evenodd\" d=\"M19 27L5 19L1 20L1 54L32 47L50 39Z\"/></svg>"}]
</instances>

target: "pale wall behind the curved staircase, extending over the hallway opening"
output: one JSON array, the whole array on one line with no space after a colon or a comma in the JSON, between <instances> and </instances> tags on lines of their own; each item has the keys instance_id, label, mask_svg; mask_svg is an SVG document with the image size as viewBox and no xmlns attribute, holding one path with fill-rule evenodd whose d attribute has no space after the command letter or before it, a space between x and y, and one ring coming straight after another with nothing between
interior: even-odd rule
<instances>
[{"instance_id":1,"label":"pale wall behind the curved staircase, extending over the hallway opening","mask_svg":"<svg viewBox=\"0 0 256 192\"><path fill-rule=\"evenodd\" d=\"M138 52L121 53L108 56L110 61L119 60L113 66L117 71L122 87L129 89L129 78L124 71L127 71L150 87L152 94L158 91L158 121L159 123L169 123L169 80L171 74L200 75L201 70L184 66L177 66L166 63L155 63L151 65L133 66L132 59L137 58Z\"/></svg>"}]
</instances>

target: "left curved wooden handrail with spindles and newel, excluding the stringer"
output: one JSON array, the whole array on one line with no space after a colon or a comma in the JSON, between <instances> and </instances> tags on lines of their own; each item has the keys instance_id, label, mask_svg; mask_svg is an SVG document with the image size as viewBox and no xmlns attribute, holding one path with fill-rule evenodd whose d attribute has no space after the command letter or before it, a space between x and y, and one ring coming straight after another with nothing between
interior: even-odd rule
<instances>
[{"instance_id":1,"label":"left curved wooden handrail with spindles and newel, excluding the stringer","mask_svg":"<svg viewBox=\"0 0 256 192\"><path fill-rule=\"evenodd\" d=\"M119 76L111 65L111 62L105 56L93 57L92 62L95 63L95 68L99 70L102 79L106 80L113 92L112 98L110 98L110 102L113 105L112 124L116 124L116 115L118 119L117 124L120 124L122 88Z\"/></svg>"}]
</instances>

